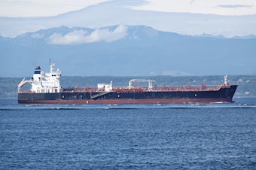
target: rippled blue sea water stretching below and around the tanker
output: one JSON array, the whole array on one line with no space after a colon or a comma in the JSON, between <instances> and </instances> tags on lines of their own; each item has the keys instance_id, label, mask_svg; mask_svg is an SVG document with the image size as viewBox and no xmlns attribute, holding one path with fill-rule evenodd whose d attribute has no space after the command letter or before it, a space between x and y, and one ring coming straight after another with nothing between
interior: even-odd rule
<instances>
[{"instance_id":1,"label":"rippled blue sea water stretching below and around the tanker","mask_svg":"<svg viewBox=\"0 0 256 170\"><path fill-rule=\"evenodd\" d=\"M256 99L18 105L0 99L0 169L256 169Z\"/></svg>"}]
</instances>

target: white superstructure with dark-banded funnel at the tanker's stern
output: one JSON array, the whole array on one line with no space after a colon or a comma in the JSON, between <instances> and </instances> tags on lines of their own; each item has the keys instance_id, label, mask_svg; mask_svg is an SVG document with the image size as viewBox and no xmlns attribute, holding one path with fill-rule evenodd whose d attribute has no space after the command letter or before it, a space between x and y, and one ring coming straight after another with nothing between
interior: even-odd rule
<instances>
[{"instance_id":1,"label":"white superstructure with dark-banded funnel at the tanker's stern","mask_svg":"<svg viewBox=\"0 0 256 170\"><path fill-rule=\"evenodd\" d=\"M40 66L35 68L32 79L25 80L25 78L18 85L18 92L20 92L21 87L26 83L31 84L31 93L59 93L61 87L59 85L59 77L61 73L59 69L54 71L55 64L50 61L50 72L44 73L41 71Z\"/></svg>"}]
</instances>

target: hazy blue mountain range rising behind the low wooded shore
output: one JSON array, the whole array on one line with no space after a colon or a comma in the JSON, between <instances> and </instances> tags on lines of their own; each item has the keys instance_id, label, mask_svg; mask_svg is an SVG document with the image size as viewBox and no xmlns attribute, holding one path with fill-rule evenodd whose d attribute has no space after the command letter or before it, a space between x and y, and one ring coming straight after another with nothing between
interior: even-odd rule
<instances>
[{"instance_id":1,"label":"hazy blue mountain range rising behind the low wooded shore","mask_svg":"<svg viewBox=\"0 0 256 170\"><path fill-rule=\"evenodd\" d=\"M0 77L28 77L56 62L64 75L256 74L256 38L191 36L149 26L59 26L0 37Z\"/></svg>"}]
</instances>

